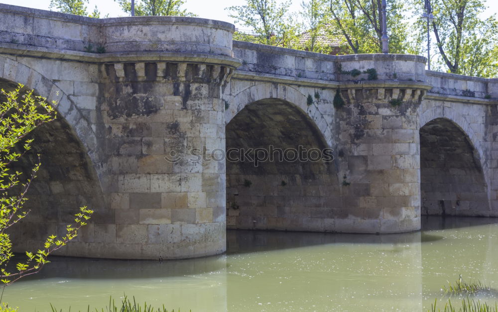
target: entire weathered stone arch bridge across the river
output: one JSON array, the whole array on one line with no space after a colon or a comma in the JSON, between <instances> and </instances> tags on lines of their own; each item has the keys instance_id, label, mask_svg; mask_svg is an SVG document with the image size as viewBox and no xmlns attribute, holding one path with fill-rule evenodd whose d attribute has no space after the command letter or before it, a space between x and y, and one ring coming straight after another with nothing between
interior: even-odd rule
<instances>
[{"instance_id":1,"label":"entire weathered stone arch bridge across the river","mask_svg":"<svg viewBox=\"0 0 498 312\"><path fill-rule=\"evenodd\" d=\"M63 254L188 258L224 252L227 228L397 233L421 214L498 216L498 79L233 41L232 24L202 18L0 4L0 20L1 87L59 103L33 133L43 165L18 250L64 233L82 205L92 223ZM269 147L334 160L224 157Z\"/></svg>"}]
</instances>

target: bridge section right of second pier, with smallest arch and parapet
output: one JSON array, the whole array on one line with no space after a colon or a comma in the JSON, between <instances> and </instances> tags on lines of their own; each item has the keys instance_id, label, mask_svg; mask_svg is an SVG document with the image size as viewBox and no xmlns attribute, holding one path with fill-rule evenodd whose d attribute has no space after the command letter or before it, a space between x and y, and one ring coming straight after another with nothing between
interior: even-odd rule
<instances>
[{"instance_id":1,"label":"bridge section right of second pier, with smallest arch and parapet","mask_svg":"<svg viewBox=\"0 0 498 312\"><path fill-rule=\"evenodd\" d=\"M490 80L427 72L420 107L422 214L497 216ZM490 166L491 165L491 166Z\"/></svg>"}]
</instances>

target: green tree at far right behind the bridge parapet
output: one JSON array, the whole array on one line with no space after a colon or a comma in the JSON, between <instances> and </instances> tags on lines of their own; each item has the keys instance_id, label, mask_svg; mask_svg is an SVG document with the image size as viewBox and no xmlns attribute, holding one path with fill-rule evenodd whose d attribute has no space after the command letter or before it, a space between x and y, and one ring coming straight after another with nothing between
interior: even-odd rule
<instances>
[{"instance_id":1,"label":"green tree at far right behind the bridge parapet","mask_svg":"<svg viewBox=\"0 0 498 312\"><path fill-rule=\"evenodd\" d=\"M417 13L425 11L416 0ZM429 12L435 16L431 31L436 39L436 69L450 73L494 77L498 70L498 22L493 15L486 20L479 14L486 9L482 0L431 0ZM425 20L417 21L420 36L426 36Z\"/></svg>"}]
</instances>

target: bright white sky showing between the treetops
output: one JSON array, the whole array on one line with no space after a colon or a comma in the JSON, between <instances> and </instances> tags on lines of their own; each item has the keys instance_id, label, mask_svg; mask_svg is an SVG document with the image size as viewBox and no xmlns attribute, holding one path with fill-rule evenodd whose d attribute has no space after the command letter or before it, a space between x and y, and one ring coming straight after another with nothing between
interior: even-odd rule
<instances>
[{"instance_id":1,"label":"bright white sky showing between the treetops","mask_svg":"<svg viewBox=\"0 0 498 312\"><path fill-rule=\"evenodd\" d=\"M182 8L186 8L187 11L193 12L199 17L223 20L227 22L234 23L234 19L228 16L228 11L225 10L226 7L231 5L243 5L245 0L230 0L230 1L220 1L220 0L186 0ZM277 0L277 2L282 2L282 0ZM302 0L292 0L291 11L298 12L301 9L300 3ZM50 0L0 0L0 3L27 6L39 9L49 9ZM489 9L484 12L484 16L488 17L491 14L498 13L498 1L497 0L487 0ZM114 0L89 0L87 5L87 10L89 12L93 11L95 5L101 11L102 15L105 16L109 14L109 17L119 17L126 16L118 2ZM497 14L498 15L498 14ZM244 29L242 25L236 25L236 27Z\"/></svg>"}]
</instances>

